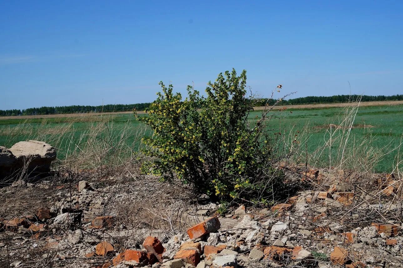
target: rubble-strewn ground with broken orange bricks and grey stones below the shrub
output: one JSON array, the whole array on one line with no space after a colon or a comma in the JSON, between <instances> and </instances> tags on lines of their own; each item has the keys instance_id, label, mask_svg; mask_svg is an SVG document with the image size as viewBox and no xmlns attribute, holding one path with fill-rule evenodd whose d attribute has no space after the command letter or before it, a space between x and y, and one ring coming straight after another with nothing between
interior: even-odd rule
<instances>
[{"instance_id":1,"label":"rubble-strewn ground with broken orange bricks and grey stones below the shrub","mask_svg":"<svg viewBox=\"0 0 403 268\"><path fill-rule=\"evenodd\" d=\"M294 176L310 181L309 187L282 203L238 204L223 214L220 204L206 199L164 196L152 177L137 184L88 179L42 181L18 192L5 187L0 201L7 204L21 191L48 196L13 215L12 207L1 208L0 267L403 267L397 175L374 175L373 187L365 189L326 170ZM147 200L139 201L141 193L166 202L166 208L161 214L143 208ZM135 216L150 215L152 221L130 225Z\"/></svg>"}]
</instances>

